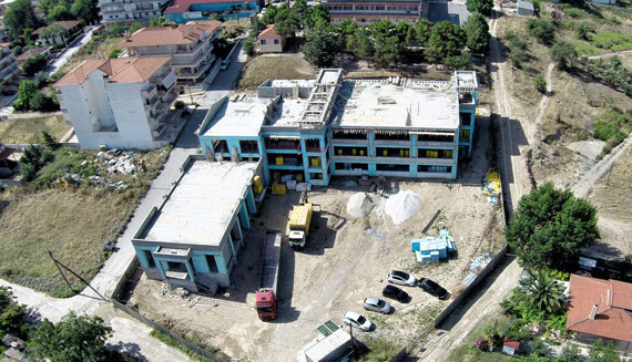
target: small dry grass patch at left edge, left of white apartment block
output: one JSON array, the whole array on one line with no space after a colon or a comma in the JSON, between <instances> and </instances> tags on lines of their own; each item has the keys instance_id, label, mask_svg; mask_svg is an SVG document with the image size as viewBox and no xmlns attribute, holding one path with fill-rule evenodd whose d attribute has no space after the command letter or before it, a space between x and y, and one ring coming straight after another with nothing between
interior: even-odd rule
<instances>
[{"instance_id":1,"label":"small dry grass patch at left edge, left of white apartment block","mask_svg":"<svg viewBox=\"0 0 632 362\"><path fill-rule=\"evenodd\" d=\"M60 139L70 130L63 115L9 118L0 121L0 139L3 143L41 143L42 132Z\"/></svg>"}]
</instances>

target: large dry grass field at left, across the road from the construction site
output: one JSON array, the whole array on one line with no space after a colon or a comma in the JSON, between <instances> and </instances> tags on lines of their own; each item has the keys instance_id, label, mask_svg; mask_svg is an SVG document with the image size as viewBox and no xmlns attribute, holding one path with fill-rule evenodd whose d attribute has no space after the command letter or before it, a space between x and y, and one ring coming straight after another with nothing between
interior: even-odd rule
<instances>
[{"instance_id":1,"label":"large dry grass field at left, across the road from the construction site","mask_svg":"<svg viewBox=\"0 0 632 362\"><path fill-rule=\"evenodd\" d=\"M57 297L72 296L48 256L90 280L109 254L103 242L115 240L169 155L160 149L144 155L147 172L143 185L126 190L90 187L11 187L0 195L0 278ZM78 278L70 277L77 290Z\"/></svg>"}]
</instances>

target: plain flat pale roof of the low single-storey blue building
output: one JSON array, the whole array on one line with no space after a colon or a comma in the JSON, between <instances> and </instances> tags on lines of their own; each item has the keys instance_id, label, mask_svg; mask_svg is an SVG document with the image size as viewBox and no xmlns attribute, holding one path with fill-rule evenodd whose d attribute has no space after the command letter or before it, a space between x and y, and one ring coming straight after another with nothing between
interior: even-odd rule
<instances>
[{"instance_id":1,"label":"plain flat pale roof of the low single-storey blue building","mask_svg":"<svg viewBox=\"0 0 632 362\"><path fill-rule=\"evenodd\" d=\"M248 162L192 162L144 240L220 246L256 167Z\"/></svg>"}]
</instances>

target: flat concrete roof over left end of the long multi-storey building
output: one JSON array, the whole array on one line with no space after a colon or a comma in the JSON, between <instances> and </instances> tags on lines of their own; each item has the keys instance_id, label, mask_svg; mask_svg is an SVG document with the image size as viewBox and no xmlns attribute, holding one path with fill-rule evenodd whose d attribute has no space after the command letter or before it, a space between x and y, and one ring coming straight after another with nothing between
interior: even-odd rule
<instances>
[{"instance_id":1,"label":"flat concrete roof over left end of the long multi-storey building","mask_svg":"<svg viewBox=\"0 0 632 362\"><path fill-rule=\"evenodd\" d=\"M225 102L211 121L212 126L204 136L256 137L265 121L265 114L273 99L256 95L238 95L237 102Z\"/></svg>"}]
</instances>

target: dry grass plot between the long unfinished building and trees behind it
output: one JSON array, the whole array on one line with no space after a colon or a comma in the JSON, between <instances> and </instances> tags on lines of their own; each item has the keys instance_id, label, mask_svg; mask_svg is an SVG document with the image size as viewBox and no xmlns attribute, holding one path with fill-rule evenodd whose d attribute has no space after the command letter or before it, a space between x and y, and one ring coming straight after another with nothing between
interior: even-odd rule
<instances>
[{"instance_id":1,"label":"dry grass plot between the long unfinished building and trees behind it","mask_svg":"<svg viewBox=\"0 0 632 362\"><path fill-rule=\"evenodd\" d=\"M238 89L255 89L266 80L314 79L316 70L303 54L259 55L248 61L242 71Z\"/></svg>"}]
</instances>

